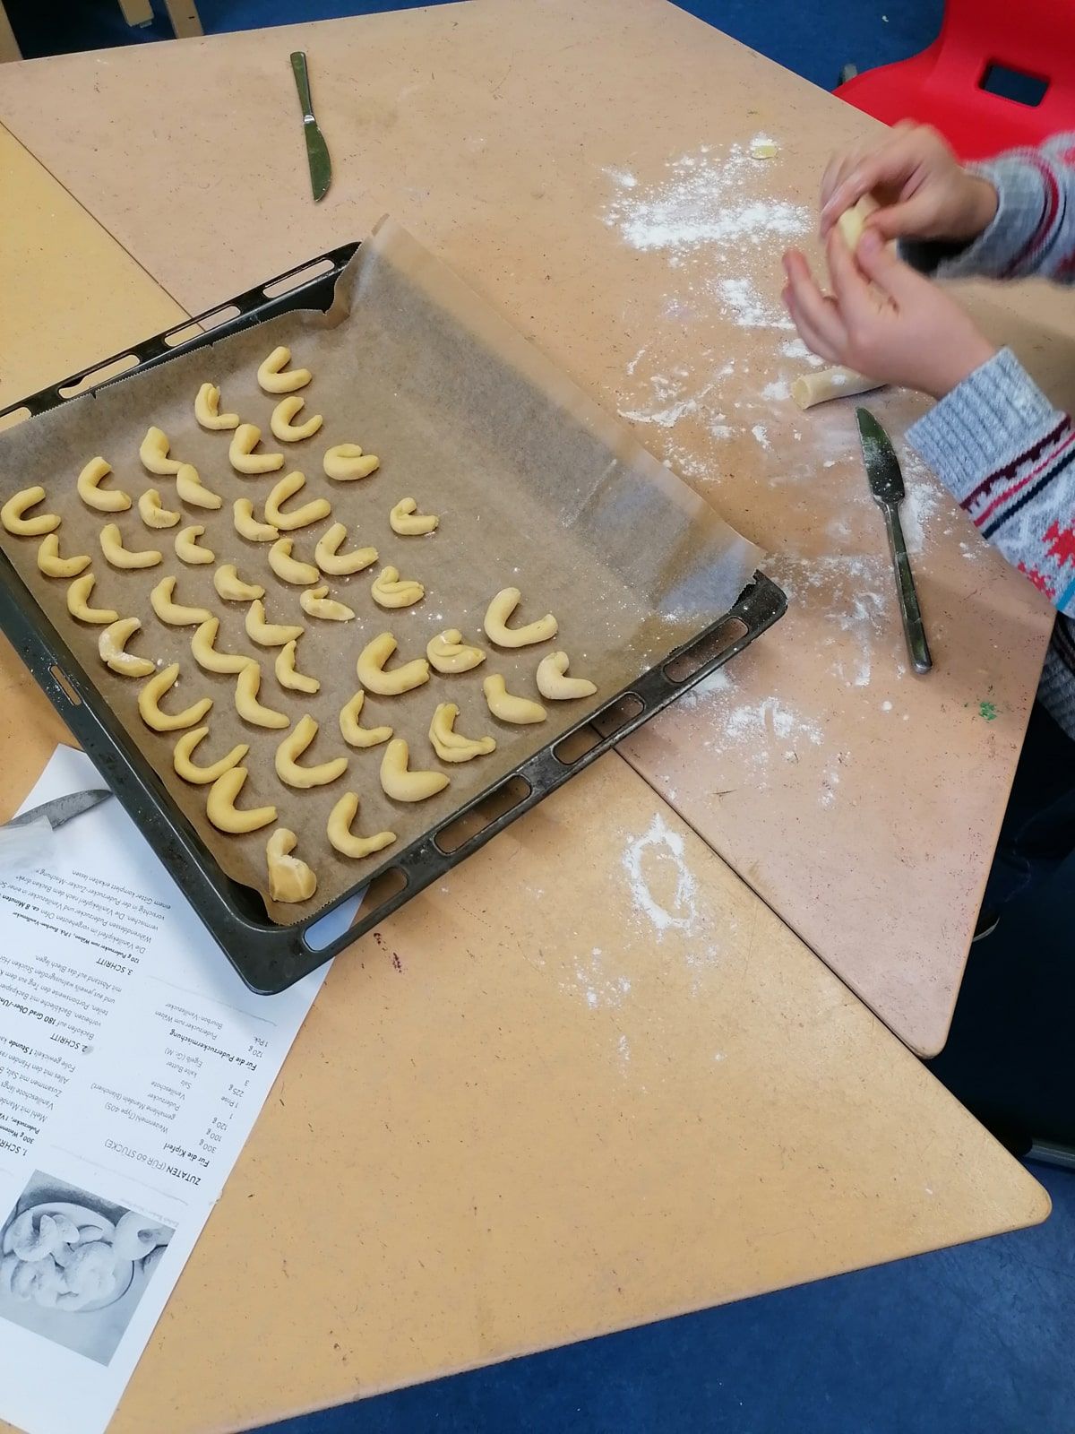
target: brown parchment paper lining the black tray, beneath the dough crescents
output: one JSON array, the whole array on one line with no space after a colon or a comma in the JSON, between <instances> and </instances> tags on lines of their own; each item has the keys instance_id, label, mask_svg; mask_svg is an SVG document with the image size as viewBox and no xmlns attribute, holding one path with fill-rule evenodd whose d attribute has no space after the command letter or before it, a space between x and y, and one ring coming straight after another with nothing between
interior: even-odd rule
<instances>
[{"instance_id":1,"label":"brown parchment paper lining the black tray, beneath the dough crescents","mask_svg":"<svg viewBox=\"0 0 1075 1434\"><path fill-rule=\"evenodd\" d=\"M314 379L301 390L305 409L324 414L324 426L301 443L278 445L269 414L278 397L259 390L257 367L277 346L287 344L292 366ZM198 387L221 386L221 412L235 412L262 430L262 449L285 456L277 473L242 478L228 462L229 432L208 433L194 417ZM172 456L194 463L202 482L224 496L219 512L185 509L175 479L149 475L138 457L145 430L156 424L171 439ZM381 467L371 478L334 483L321 469L327 447L360 443L377 453ZM82 466L102 455L115 475L106 480L132 500L126 513L90 512L75 490ZM292 533L294 554L312 561L314 545L335 521L347 523L347 546L374 545L380 561L351 578L327 578L330 595L355 609L353 622L325 622L300 608L300 588L280 582L268 566L268 543L239 538L232 502L247 496L261 516L265 496L282 473L301 469L305 489L292 506L324 495L333 513L322 523ZM321 903L390 865L423 832L523 759L555 740L569 726L606 703L616 691L707 622L725 612L758 562L758 551L724 523L712 508L642 449L529 344L462 280L421 248L391 219L384 219L341 275L330 314L302 311L133 376L97 394L0 435L0 500L33 483L47 506L62 516L64 556L90 554L97 585L92 602L120 617L142 618L129 650L158 664L181 663L181 678L165 700L179 710L211 695L209 736L196 753L208 763L235 741L249 743L249 779L241 806L272 803L278 825L300 837L297 855L318 875L318 892L302 905L277 905L268 898L265 842L274 827L236 837L218 832L205 816L206 787L188 786L172 767L178 734L150 731L138 716L140 684L110 673L97 654L100 628L82 627L66 609L63 581L44 578L36 565L37 539L0 532L4 552L49 619L63 634L86 675L133 734L161 773L176 806L186 813L221 868L257 888L274 921L307 919ZM138 496L161 492L166 508L183 513L173 529L146 529ZM421 512L440 516L426 538L391 532L388 511L414 498ZM102 526L116 521L132 548L156 548L155 568L119 572L100 552ZM216 564L188 566L173 552L175 533L202 523ZM314 697L288 693L272 671L277 650L255 647L245 635L244 604L222 602L212 585L215 566L235 562L239 576L265 587L269 621L298 622L298 667L321 680ZM413 608L388 612L370 597L370 584L384 564L401 576L419 578L426 598ZM242 651L261 663L259 700L287 713L292 723L310 713L320 733L304 761L320 763L340 753L350 757L344 777L327 787L297 792L275 774L272 759L285 736L251 727L235 711L235 681L202 671L191 655L194 628L162 624L149 605L149 591L175 574L176 601L209 608L221 618L216 645ZM552 611L559 619L553 642L515 652L493 650L482 632L489 599L517 587L523 601L513 622ZM401 697L367 694L363 726L388 724L406 737L413 767L441 769L427 739L433 710L454 701L457 728L467 736L493 733L489 757L443 766L450 786L421 803L388 800L380 786L384 747L354 750L338 728L340 708L357 691L355 658L378 632L398 641L393 663L424 655L429 640L457 627L489 657L473 673L433 674L429 684ZM572 673L598 683L598 694L582 703L546 703L548 720L532 727L497 723L487 711L482 680L503 673L509 691L538 697L535 673L549 651L562 648ZM345 792L361 799L355 830L390 829L398 843L351 862L325 837L333 804Z\"/></svg>"}]
</instances>

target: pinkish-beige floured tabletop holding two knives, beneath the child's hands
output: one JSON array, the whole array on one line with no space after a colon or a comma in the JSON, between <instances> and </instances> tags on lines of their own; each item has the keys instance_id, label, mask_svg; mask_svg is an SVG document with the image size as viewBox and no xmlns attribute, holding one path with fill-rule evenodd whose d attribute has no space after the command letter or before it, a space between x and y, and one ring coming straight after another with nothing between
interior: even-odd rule
<instances>
[{"instance_id":1,"label":"pinkish-beige floured tabletop holding two knives, beneath the child's hands","mask_svg":"<svg viewBox=\"0 0 1075 1434\"><path fill-rule=\"evenodd\" d=\"M318 206L298 46L334 162ZM806 358L778 255L873 120L662 0L66 56L9 67L0 119L192 311L391 211L768 548L790 615L626 756L913 1050L940 1048L1051 612L903 450L922 400L876 396L936 657L909 674L853 404L787 396ZM758 132L775 159L732 152ZM985 308L1075 397L1071 340Z\"/></svg>"}]
</instances>

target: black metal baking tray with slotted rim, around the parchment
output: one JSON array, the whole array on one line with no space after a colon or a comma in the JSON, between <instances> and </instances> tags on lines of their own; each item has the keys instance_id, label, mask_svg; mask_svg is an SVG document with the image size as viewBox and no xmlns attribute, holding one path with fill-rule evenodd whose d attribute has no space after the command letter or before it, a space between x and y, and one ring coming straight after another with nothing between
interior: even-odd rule
<instances>
[{"instance_id":1,"label":"black metal baking tray with slotted rim, around the parchment","mask_svg":"<svg viewBox=\"0 0 1075 1434\"><path fill-rule=\"evenodd\" d=\"M120 354L0 409L0 422L23 412L46 413L82 393L122 381L171 358L298 308L327 310L357 244L344 244L225 304L135 344ZM252 888L226 876L186 817L172 804L152 764L138 750L62 635L0 551L0 628L95 761L206 929L254 991L282 991L377 926L417 892L439 880L509 823L536 806L668 707L771 627L787 608L783 591L763 572L728 612L705 625L656 667L611 697L566 733L522 761L447 819L396 852L350 892L305 922L280 926ZM364 896L363 896L364 893ZM333 913L363 896L355 919L340 929Z\"/></svg>"}]
</instances>

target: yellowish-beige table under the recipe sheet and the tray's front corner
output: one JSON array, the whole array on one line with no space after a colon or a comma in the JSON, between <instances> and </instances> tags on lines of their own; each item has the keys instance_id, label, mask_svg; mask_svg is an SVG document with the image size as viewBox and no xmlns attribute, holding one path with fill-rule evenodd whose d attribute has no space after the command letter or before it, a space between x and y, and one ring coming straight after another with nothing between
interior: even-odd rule
<instances>
[{"instance_id":1,"label":"yellowish-beige table under the recipe sheet and the tray's front corner","mask_svg":"<svg viewBox=\"0 0 1075 1434\"><path fill-rule=\"evenodd\" d=\"M179 317L3 129L0 188L0 406ZM63 736L3 645L0 820ZM1046 1213L611 754L338 959L113 1428L249 1428Z\"/></svg>"}]
</instances>

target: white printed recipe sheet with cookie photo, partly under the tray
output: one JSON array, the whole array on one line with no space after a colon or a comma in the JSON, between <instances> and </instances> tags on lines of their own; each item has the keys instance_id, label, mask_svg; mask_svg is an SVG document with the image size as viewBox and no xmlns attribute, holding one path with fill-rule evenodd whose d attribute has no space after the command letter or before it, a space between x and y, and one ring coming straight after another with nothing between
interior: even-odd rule
<instances>
[{"instance_id":1,"label":"white printed recipe sheet with cookie photo, partly under the tray","mask_svg":"<svg viewBox=\"0 0 1075 1434\"><path fill-rule=\"evenodd\" d=\"M102 784L59 747L26 807ZM69 822L47 868L0 878L0 1229L6 1252L66 1262L0 1265L0 1418L106 1428L325 971L248 991L115 800ZM128 1210L112 1252L86 1253ZM155 1253L120 1292L132 1242ZM100 1283L112 1302L70 1308ZM67 1308L39 1304L69 1285Z\"/></svg>"}]
</instances>

